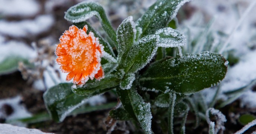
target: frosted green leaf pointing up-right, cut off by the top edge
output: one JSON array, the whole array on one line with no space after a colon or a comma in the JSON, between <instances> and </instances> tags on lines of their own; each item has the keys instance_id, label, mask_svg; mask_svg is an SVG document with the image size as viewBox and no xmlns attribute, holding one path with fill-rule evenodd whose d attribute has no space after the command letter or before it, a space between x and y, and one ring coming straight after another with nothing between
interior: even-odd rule
<instances>
[{"instance_id":1,"label":"frosted green leaf pointing up-right, cut off by the top edge","mask_svg":"<svg viewBox=\"0 0 256 134\"><path fill-rule=\"evenodd\" d=\"M176 16L178 9L190 0L157 0L136 22L141 27L141 37L154 34L162 29Z\"/></svg>"}]
</instances>

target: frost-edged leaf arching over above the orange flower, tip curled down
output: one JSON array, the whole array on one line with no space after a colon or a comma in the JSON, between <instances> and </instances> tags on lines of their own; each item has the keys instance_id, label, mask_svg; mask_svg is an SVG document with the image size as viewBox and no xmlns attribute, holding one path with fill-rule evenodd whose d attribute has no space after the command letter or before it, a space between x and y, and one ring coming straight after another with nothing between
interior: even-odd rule
<instances>
[{"instance_id":1,"label":"frost-edged leaf arching over above the orange flower, tip curled down","mask_svg":"<svg viewBox=\"0 0 256 134\"><path fill-rule=\"evenodd\" d=\"M106 31L111 40L117 44L115 30L108 21L103 7L98 3L90 1L78 3L68 9L64 18L72 23L79 23L88 20L92 16L96 16L99 19L102 28Z\"/></svg>"}]
</instances>

